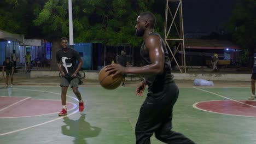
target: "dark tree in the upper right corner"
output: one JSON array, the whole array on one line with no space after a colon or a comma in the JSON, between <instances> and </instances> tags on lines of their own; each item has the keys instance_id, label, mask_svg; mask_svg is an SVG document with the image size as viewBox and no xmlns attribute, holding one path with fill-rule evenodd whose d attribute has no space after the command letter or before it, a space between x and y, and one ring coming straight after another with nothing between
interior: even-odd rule
<instances>
[{"instance_id":1,"label":"dark tree in the upper right corner","mask_svg":"<svg viewBox=\"0 0 256 144\"><path fill-rule=\"evenodd\" d=\"M240 0L232 11L232 16L227 23L231 39L242 47L243 56L252 56L256 49L256 1ZM242 59L246 60L246 59Z\"/></svg>"}]
</instances>

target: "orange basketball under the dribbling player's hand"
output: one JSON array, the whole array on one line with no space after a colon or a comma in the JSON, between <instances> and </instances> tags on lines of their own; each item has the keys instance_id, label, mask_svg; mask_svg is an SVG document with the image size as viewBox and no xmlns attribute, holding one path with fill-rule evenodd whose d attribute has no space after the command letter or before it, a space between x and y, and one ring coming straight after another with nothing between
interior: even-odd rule
<instances>
[{"instance_id":1,"label":"orange basketball under the dribbling player's hand","mask_svg":"<svg viewBox=\"0 0 256 144\"><path fill-rule=\"evenodd\" d=\"M106 67L101 69L100 73L98 74L98 81L100 81L101 86L106 89L115 89L119 87L123 81L123 76L119 74L112 77L113 74L108 75L105 70Z\"/></svg>"}]
</instances>

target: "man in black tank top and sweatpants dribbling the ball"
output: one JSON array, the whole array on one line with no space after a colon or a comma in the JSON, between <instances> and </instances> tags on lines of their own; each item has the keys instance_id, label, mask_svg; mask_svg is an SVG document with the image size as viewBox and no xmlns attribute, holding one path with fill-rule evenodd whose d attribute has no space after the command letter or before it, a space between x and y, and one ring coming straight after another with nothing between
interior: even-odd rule
<instances>
[{"instance_id":1,"label":"man in black tank top and sweatpants dribbling the ball","mask_svg":"<svg viewBox=\"0 0 256 144\"><path fill-rule=\"evenodd\" d=\"M125 68L119 64L107 65L108 73L142 74L145 80L137 85L136 95L143 96L148 85L147 98L141 106L136 124L136 143L149 144L155 133L156 139L165 143L194 143L181 133L172 131L172 109L179 95L173 81L170 59L165 43L159 34L154 33L155 16L142 13L137 18L136 35L143 37L141 58L143 67Z\"/></svg>"}]
</instances>

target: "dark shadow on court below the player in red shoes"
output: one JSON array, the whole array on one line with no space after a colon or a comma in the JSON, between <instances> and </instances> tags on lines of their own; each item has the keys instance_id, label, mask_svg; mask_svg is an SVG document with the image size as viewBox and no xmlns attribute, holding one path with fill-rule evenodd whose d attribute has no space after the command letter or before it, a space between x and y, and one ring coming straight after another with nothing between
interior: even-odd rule
<instances>
[{"instance_id":1,"label":"dark shadow on court below the player in red shoes","mask_svg":"<svg viewBox=\"0 0 256 144\"><path fill-rule=\"evenodd\" d=\"M81 117L77 120L63 117L66 125L61 126L63 135L73 136L74 144L86 144L86 138L96 137L100 134L101 128L92 127L90 123L85 121L85 114L80 113Z\"/></svg>"}]
</instances>

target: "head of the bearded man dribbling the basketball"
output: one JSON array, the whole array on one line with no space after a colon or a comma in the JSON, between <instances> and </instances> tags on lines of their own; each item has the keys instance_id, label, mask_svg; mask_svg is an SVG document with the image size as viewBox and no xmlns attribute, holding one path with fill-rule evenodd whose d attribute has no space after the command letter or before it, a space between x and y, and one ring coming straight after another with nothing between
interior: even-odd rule
<instances>
[{"instance_id":1,"label":"head of the bearded man dribbling the basketball","mask_svg":"<svg viewBox=\"0 0 256 144\"><path fill-rule=\"evenodd\" d=\"M136 35L142 37L146 29L154 29L156 23L155 16L149 11L142 13L137 18Z\"/></svg>"}]
</instances>

